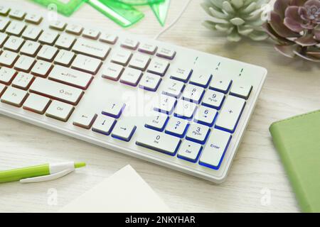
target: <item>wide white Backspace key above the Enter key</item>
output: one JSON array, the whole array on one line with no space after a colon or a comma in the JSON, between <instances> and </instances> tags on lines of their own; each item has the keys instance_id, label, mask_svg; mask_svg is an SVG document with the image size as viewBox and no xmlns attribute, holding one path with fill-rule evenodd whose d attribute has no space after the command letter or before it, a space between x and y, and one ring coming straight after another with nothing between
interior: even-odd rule
<instances>
[{"instance_id":1,"label":"wide white Backspace key above the Enter key","mask_svg":"<svg viewBox=\"0 0 320 227\"><path fill-rule=\"evenodd\" d=\"M91 40L85 40L84 38L79 38L73 46L73 51L77 53L80 53L82 55L89 55L91 57L97 57L102 60L105 60L110 50L111 48L109 45Z\"/></svg>"}]
</instances>

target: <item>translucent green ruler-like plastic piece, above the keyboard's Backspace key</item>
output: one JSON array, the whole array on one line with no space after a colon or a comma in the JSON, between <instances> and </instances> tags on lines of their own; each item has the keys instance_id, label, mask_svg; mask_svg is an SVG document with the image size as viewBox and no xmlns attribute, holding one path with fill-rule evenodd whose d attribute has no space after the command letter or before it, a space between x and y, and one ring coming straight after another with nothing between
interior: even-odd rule
<instances>
[{"instance_id":1,"label":"translucent green ruler-like plastic piece, above the keyboard's Backspace key","mask_svg":"<svg viewBox=\"0 0 320 227\"><path fill-rule=\"evenodd\" d=\"M87 3L124 28L132 26L144 18L144 13L119 1L88 0Z\"/></svg>"}]
</instances>

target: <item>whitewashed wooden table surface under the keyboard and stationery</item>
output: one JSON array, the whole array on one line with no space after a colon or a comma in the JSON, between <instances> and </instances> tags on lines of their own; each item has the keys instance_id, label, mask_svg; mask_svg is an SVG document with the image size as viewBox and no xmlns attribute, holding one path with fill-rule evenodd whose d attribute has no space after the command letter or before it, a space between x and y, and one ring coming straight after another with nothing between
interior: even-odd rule
<instances>
[{"instance_id":1,"label":"whitewashed wooden table surface under the keyboard and stationery","mask_svg":"<svg viewBox=\"0 0 320 227\"><path fill-rule=\"evenodd\" d=\"M41 9L27 1L12 1L26 5L26 9ZM168 23L181 11L185 2L172 1ZM172 211L299 211L268 128L273 121L319 109L319 65L282 57L274 51L271 42L245 40L242 43L228 43L223 36L201 26L207 16L199 2L193 0L180 21L161 40L262 65L269 70L228 179L223 184L215 185L0 116L1 170L65 160L87 162L85 169L52 182L1 184L0 211L57 211L127 164L139 172ZM161 26L151 9L145 7L143 11L146 18L128 31L153 37ZM74 14L73 20L120 29L90 6L83 6ZM58 204L55 206L48 204L48 189L51 188L58 192Z\"/></svg>"}]
</instances>

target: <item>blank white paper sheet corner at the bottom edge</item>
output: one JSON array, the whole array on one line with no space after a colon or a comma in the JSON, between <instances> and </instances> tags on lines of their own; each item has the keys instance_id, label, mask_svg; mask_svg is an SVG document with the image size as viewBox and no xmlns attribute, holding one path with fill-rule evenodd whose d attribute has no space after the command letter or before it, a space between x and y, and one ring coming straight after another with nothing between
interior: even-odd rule
<instances>
[{"instance_id":1,"label":"blank white paper sheet corner at the bottom edge","mask_svg":"<svg viewBox=\"0 0 320 227\"><path fill-rule=\"evenodd\" d=\"M59 212L171 212L138 173L127 165Z\"/></svg>"}]
</instances>

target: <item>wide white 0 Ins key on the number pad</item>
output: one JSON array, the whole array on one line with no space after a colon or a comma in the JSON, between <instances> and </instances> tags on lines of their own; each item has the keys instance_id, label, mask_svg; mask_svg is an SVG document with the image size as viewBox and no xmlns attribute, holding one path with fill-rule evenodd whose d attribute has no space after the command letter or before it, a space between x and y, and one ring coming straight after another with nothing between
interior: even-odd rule
<instances>
[{"instance_id":1,"label":"wide white 0 Ins key on the number pad","mask_svg":"<svg viewBox=\"0 0 320 227\"><path fill-rule=\"evenodd\" d=\"M140 131L136 141L139 146L172 156L176 155L180 143L180 138L150 129Z\"/></svg>"}]
</instances>

